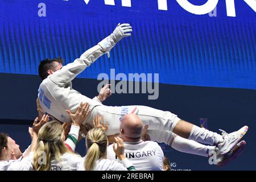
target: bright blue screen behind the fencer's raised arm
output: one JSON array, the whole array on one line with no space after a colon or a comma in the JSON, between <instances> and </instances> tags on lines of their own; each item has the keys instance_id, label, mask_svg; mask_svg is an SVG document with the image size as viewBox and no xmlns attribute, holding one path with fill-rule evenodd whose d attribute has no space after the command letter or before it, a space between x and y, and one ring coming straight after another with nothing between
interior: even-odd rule
<instances>
[{"instance_id":1,"label":"bright blue screen behind the fencer's raised arm","mask_svg":"<svg viewBox=\"0 0 256 182\"><path fill-rule=\"evenodd\" d=\"M108 36L118 23L133 35L121 40L79 77L100 73L159 73L164 84L256 89L255 11L235 1L236 17L219 1L216 16L195 15L176 1L124 7L104 0L0 1L0 72L37 75L40 60L61 56L65 63ZM207 1L189 1L203 5ZM40 3L46 16L39 17Z\"/></svg>"}]
</instances>

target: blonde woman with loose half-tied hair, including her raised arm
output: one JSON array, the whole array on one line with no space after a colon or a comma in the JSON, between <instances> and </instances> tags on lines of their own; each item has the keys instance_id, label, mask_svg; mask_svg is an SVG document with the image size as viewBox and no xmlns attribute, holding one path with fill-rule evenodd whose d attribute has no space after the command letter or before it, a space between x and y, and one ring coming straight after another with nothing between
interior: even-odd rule
<instances>
[{"instance_id":1,"label":"blonde woman with loose half-tied hair, including her raised arm","mask_svg":"<svg viewBox=\"0 0 256 182\"><path fill-rule=\"evenodd\" d=\"M71 143L77 143L82 121L88 117L90 111L87 103L80 103L76 113L67 110L72 119L74 135L68 135L65 141L64 129L58 121L51 121L44 125L38 133L38 146L34 152L33 166L37 171L75 171L81 156L74 154ZM68 142L71 140L72 142Z\"/></svg>"}]
</instances>

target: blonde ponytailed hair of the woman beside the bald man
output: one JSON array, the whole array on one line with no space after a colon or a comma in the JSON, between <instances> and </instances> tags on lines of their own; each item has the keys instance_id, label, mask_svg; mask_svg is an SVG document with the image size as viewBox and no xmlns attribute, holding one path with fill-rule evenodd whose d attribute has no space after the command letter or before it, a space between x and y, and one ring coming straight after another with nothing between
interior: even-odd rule
<instances>
[{"instance_id":1,"label":"blonde ponytailed hair of the woman beside the bald man","mask_svg":"<svg viewBox=\"0 0 256 182\"><path fill-rule=\"evenodd\" d=\"M108 147L108 138L103 129L96 127L86 135L87 154L85 158L84 168L86 171L93 170L98 159L106 154Z\"/></svg>"}]
</instances>

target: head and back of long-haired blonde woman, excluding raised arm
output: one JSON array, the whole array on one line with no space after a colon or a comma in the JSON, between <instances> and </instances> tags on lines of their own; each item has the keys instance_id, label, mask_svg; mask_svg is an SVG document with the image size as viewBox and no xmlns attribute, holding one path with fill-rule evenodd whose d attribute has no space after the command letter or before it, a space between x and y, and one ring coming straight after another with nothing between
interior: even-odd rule
<instances>
[{"instance_id":1,"label":"head and back of long-haired blonde woman, excluding raised arm","mask_svg":"<svg viewBox=\"0 0 256 182\"><path fill-rule=\"evenodd\" d=\"M38 133L38 146L34 152L36 171L73 171L81 156L73 154L65 146L65 135L58 121L44 125Z\"/></svg>"}]
</instances>

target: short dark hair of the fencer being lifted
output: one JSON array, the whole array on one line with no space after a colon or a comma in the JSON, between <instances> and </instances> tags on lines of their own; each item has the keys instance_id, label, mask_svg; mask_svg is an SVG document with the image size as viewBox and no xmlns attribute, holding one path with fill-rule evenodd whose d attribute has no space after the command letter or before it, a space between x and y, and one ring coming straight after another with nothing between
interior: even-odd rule
<instances>
[{"instance_id":1,"label":"short dark hair of the fencer being lifted","mask_svg":"<svg viewBox=\"0 0 256 182\"><path fill-rule=\"evenodd\" d=\"M38 67L38 73L39 76L42 78L42 80L46 79L48 76L48 69L54 69L54 62L57 63L63 63L63 59L61 57L57 57L55 59L45 59L40 61L39 67Z\"/></svg>"}]
</instances>

